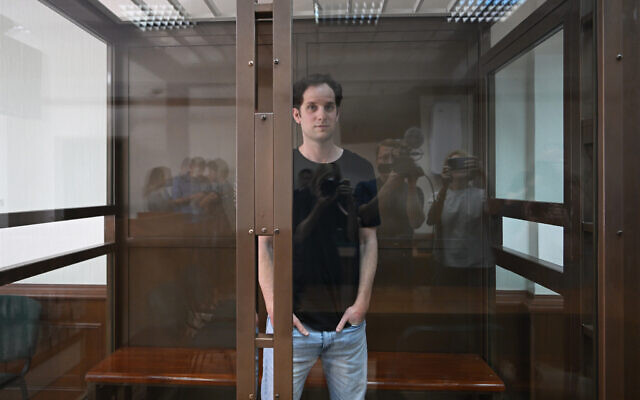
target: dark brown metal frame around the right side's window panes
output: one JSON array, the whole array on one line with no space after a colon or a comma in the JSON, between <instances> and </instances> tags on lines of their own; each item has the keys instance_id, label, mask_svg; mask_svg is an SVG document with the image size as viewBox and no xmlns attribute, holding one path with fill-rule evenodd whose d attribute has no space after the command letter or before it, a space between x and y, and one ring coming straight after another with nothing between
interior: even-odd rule
<instances>
[{"instance_id":1,"label":"dark brown metal frame around the right side's window panes","mask_svg":"<svg viewBox=\"0 0 640 400\"><path fill-rule=\"evenodd\" d=\"M483 129L486 129L487 138L487 167L488 178L487 187L489 212L492 217L492 230L494 233L494 249L496 251L496 261L501 267L515 272L529 280L539 282L544 286L553 290L553 288L564 289L563 280L568 279L571 269L574 269L572 260L574 254L570 252L572 248L570 230L574 228L574 221L570 218L568 209L575 199L572 198L573 188L571 188L571 174L574 172L572 157L574 151L572 146L572 137L574 135L573 119L576 115L572 107L572 102L576 97L575 84L572 81L572 68L575 49L571 49L567 44L572 29L572 3L565 0L548 1L523 23L510 32L505 38L489 49L480 60L480 73L484 77L483 94L485 96L485 112L493 111L493 74L501 66L506 65L511 60L524 54L526 51L535 47L542 40L552 35L560 27L564 28L564 203L546 203L535 201L520 201L511 199L495 198L495 185L491 182L495 174L495 132L492 118L487 114L487 120L484 121ZM579 127L578 127L579 129ZM525 221L539 222L550 225L563 226L565 255L564 255L564 272L557 272L557 267L543 260L521 254L511 250L502 248L502 217L518 218ZM549 267L552 267L551 269ZM567 275L567 276L564 276ZM543 279L544 283L538 281ZM555 279L555 282L554 282ZM560 291L559 293L562 293Z\"/></svg>"}]
</instances>

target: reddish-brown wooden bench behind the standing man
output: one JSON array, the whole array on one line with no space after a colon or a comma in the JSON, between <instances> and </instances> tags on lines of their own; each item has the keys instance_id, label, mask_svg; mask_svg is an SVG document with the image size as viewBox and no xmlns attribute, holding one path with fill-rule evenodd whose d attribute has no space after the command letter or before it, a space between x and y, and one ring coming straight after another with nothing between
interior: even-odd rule
<instances>
[{"instance_id":1,"label":"reddish-brown wooden bench behind the standing man","mask_svg":"<svg viewBox=\"0 0 640 400\"><path fill-rule=\"evenodd\" d=\"M235 350L125 347L87 372L91 394L105 386L234 386ZM369 389L503 392L504 382L475 354L369 352ZM324 386L321 363L307 387Z\"/></svg>"}]
</instances>

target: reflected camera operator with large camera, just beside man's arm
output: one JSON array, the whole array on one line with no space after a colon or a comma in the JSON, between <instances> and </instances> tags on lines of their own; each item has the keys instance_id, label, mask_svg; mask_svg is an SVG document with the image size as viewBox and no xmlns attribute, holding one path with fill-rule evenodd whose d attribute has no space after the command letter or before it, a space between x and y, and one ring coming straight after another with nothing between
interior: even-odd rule
<instances>
[{"instance_id":1,"label":"reflected camera operator with large camera, just beside man's arm","mask_svg":"<svg viewBox=\"0 0 640 400\"><path fill-rule=\"evenodd\" d=\"M376 149L378 196L372 203L362 207L379 209L380 237L394 240L410 240L413 231L424 222L424 194L417 187L418 178L424 176L422 168L411 155L412 147L406 140L386 139Z\"/></svg>"}]
</instances>

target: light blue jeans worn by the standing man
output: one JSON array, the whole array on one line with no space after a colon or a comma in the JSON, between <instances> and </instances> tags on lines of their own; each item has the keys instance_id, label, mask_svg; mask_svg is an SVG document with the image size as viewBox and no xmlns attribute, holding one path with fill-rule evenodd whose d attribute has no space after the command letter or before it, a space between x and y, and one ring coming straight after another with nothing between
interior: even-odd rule
<instances>
[{"instance_id":1,"label":"light blue jeans worn by the standing man","mask_svg":"<svg viewBox=\"0 0 640 400\"><path fill-rule=\"evenodd\" d=\"M366 322L344 328L342 332L316 331L305 325L309 336L293 328L293 399L302 395L304 382L318 357L332 400L364 399L367 390ZM272 333L267 319L267 333ZM273 400L273 349L264 349L262 400Z\"/></svg>"}]
</instances>

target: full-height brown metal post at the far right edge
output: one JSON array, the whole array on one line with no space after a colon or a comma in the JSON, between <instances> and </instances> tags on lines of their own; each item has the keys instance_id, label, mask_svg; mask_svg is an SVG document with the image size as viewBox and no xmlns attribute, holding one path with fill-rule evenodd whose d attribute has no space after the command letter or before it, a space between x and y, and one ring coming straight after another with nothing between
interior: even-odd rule
<instances>
[{"instance_id":1,"label":"full-height brown metal post at the far right edge","mask_svg":"<svg viewBox=\"0 0 640 400\"><path fill-rule=\"evenodd\" d=\"M622 0L598 0L598 398L623 399Z\"/></svg>"}]
</instances>

